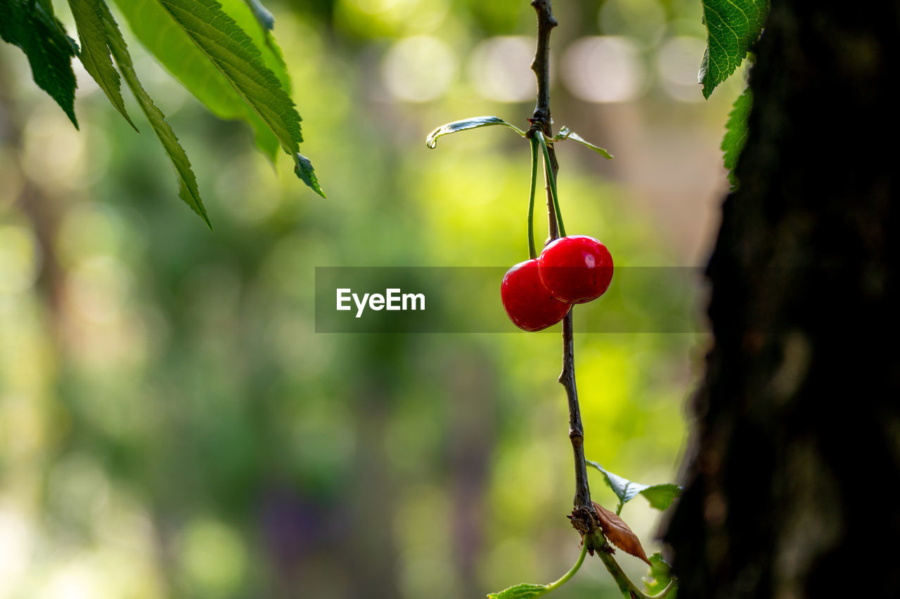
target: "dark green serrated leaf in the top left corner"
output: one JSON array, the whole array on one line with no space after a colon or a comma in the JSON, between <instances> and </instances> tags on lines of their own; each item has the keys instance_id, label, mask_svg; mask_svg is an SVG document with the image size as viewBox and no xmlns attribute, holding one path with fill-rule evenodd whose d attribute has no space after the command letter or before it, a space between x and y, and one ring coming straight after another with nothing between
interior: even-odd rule
<instances>
[{"instance_id":1,"label":"dark green serrated leaf in the top left corner","mask_svg":"<svg viewBox=\"0 0 900 599\"><path fill-rule=\"evenodd\" d=\"M53 15L52 4L0 0L0 38L22 49L34 83L59 104L77 129L72 57L78 47Z\"/></svg>"}]
</instances>

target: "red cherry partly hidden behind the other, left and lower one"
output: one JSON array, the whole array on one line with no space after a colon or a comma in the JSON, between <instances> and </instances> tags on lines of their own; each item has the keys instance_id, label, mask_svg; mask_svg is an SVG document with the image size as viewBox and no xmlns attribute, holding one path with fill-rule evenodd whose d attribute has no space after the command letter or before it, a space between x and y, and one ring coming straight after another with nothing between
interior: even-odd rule
<instances>
[{"instance_id":1,"label":"red cherry partly hidden behind the other, left and lower one","mask_svg":"<svg viewBox=\"0 0 900 599\"><path fill-rule=\"evenodd\" d=\"M516 264L500 283L500 299L513 324L526 331L540 331L558 323L572 308L554 299L537 274L537 260Z\"/></svg>"}]
</instances>

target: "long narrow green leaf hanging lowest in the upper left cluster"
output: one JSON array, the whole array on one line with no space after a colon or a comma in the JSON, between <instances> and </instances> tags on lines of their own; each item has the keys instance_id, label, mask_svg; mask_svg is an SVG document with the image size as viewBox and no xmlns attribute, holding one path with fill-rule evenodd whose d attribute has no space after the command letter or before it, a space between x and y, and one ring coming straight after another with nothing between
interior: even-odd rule
<instances>
[{"instance_id":1,"label":"long narrow green leaf hanging lowest in the upper left cluster","mask_svg":"<svg viewBox=\"0 0 900 599\"><path fill-rule=\"evenodd\" d=\"M178 175L178 195L184 200L184 203L191 207L191 210L200 215L206 222L207 227L212 228L212 223L200 198L197 180L193 176L191 161L188 160L187 155L184 153L184 148L178 143L175 131L166 122L166 117L162 111L157 108L157 105L153 103L153 100L144 91L143 86L140 85L138 76L134 72L134 65L131 63L128 47L121 36L121 31L119 31L119 25L112 18L112 13L109 12L105 4L103 4L103 21L109 49L112 51L112 58L115 59L116 65L121 70L121 75L125 78L125 83L128 84L131 93L138 100L140 109L147 115L150 126L157 134L157 138L159 138L163 148L166 149L166 154L172 161L172 165L175 166L175 173Z\"/></svg>"}]
</instances>

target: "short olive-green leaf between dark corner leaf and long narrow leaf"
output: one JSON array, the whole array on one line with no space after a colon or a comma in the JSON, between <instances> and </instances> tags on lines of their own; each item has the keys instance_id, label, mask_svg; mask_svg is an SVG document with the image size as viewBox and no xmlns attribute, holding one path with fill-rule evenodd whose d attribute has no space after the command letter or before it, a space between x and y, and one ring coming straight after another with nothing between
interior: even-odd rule
<instances>
[{"instance_id":1,"label":"short olive-green leaf between dark corner leaf and long narrow leaf","mask_svg":"<svg viewBox=\"0 0 900 599\"><path fill-rule=\"evenodd\" d=\"M75 17L78 39L81 40L81 51L78 58L85 66L87 73L109 98L115 109L128 121L131 128L138 130L131 122L125 110L125 102L121 98L121 81L119 73L112 67L112 58L107 46L106 31L103 25L103 11L100 7L103 0L68 0L68 6Z\"/></svg>"}]
</instances>

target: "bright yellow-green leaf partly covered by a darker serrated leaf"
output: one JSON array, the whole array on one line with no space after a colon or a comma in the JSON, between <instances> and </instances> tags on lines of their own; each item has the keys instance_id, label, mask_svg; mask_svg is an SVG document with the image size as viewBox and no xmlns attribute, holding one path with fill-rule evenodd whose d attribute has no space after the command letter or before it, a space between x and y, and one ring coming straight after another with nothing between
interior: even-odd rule
<instances>
[{"instance_id":1,"label":"bright yellow-green leaf partly covered by a darker serrated leaf","mask_svg":"<svg viewBox=\"0 0 900 599\"><path fill-rule=\"evenodd\" d=\"M262 30L247 5L240 0L224 0L229 15L249 32L254 40L262 40ZM259 148L271 160L278 154L279 142L256 112L238 95L187 33L157 0L115 0L131 31L154 57L184 87L220 119L245 121L254 132ZM233 5L232 5L233 4ZM284 67L279 66L269 49L264 53L266 66L287 81ZM284 78L283 78L284 77Z\"/></svg>"}]
</instances>

